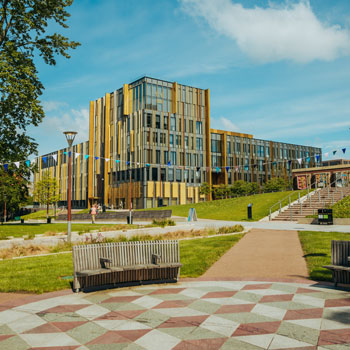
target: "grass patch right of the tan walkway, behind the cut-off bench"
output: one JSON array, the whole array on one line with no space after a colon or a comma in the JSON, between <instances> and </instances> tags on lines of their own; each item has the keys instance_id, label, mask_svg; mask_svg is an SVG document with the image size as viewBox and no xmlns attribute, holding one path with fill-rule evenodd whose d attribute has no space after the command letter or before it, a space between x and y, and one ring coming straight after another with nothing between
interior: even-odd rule
<instances>
[{"instance_id":1,"label":"grass patch right of the tan walkway, behind the cut-off bench","mask_svg":"<svg viewBox=\"0 0 350 350\"><path fill-rule=\"evenodd\" d=\"M316 281L332 281L330 270L323 265L331 263L331 241L350 240L350 233L299 231L310 278Z\"/></svg>"}]
</instances>

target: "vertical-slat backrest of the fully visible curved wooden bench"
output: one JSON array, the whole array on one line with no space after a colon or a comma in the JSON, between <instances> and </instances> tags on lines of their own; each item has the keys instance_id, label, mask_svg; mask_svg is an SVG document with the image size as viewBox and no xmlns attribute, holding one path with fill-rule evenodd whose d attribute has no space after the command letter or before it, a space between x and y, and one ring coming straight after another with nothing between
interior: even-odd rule
<instances>
[{"instance_id":1,"label":"vertical-slat backrest of the fully visible curved wooden bench","mask_svg":"<svg viewBox=\"0 0 350 350\"><path fill-rule=\"evenodd\" d=\"M152 255L160 263L180 262L179 241L134 241L73 246L74 272L101 268L100 258L112 260L111 266L152 264Z\"/></svg>"}]
</instances>

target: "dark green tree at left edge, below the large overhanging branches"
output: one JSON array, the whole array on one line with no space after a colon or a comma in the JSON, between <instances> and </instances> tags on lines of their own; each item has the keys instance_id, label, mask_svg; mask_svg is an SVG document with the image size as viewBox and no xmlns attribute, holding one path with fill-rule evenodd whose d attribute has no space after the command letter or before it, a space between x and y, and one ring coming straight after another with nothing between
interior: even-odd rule
<instances>
[{"instance_id":1,"label":"dark green tree at left edge, below the large overhanging branches","mask_svg":"<svg viewBox=\"0 0 350 350\"><path fill-rule=\"evenodd\" d=\"M16 212L28 198L28 181L11 170L0 170L0 208L3 217Z\"/></svg>"}]
</instances>

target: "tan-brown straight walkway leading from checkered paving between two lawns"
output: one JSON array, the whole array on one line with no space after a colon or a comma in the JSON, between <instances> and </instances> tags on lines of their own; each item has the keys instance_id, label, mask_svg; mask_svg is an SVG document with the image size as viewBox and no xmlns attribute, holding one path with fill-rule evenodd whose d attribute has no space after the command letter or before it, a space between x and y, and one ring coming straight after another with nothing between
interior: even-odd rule
<instances>
[{"instance_id":1,"label":"tan-brown straight walkway leading from checkered paving between two lawns","mask_svg":"<svg viewBox=\"0 0 350 350\"><path fill-rule=\"evenodd\" d=\"M252 229L203 278L307 278L297 231Z\"/></svg>"}]
</instances>

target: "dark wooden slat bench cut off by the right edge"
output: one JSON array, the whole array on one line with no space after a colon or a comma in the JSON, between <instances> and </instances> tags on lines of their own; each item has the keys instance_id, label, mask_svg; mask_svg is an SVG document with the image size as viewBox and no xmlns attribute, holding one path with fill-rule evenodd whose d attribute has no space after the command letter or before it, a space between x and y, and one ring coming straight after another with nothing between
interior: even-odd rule
<instances>
[{"instance_id":1,"label":"dark wooden slat bench cut off by the right edge","mask_svg":"<svg viewBox=\"0 0 350 350\"><path fill-rule=\"evenodd\" d=\"M350 284L350 241L332 241L331 265L323 266L332 271L335 286Z\"/></svg>"}]
</instances>

